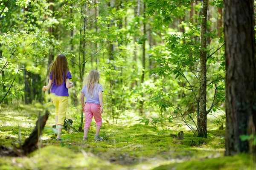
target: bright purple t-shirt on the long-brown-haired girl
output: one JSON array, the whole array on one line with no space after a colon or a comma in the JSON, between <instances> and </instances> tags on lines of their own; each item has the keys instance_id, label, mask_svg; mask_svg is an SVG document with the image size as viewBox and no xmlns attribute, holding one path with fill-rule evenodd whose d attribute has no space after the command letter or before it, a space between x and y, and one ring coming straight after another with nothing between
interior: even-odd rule
<instances>
[{"instance_id":1,"label":"bright purple t-shirt on the long-brown-haired girl","mask_svg":"<svg viewBox=\"0 0 256 170\"><path fill-rule=\"evenodd\" d=\"M49 79L52 80L52 72L49 76ZM67 79L72 79L72 76L69 71L67 71ZM63 83L61 85L57 86L54 79L52 83L51 93L55 94L56 96L69 96L64 74L63 74Z\"/></svg>"}]
</instances>

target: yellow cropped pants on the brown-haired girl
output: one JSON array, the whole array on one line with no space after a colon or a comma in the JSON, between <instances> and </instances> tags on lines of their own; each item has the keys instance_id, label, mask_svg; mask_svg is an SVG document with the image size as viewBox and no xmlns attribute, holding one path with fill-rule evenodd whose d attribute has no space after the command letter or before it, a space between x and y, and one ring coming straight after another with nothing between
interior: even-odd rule
<instances>
[{"instance_id":1,"label":"yellow cropped pants on the brown-haired girl","mask_svg":"<svg viewBox=\"0 0 256 170\"><path fill-rule=\"evenodd\" d=\"M55 116L58 116L57 125L64 125L67 113L68 96L52 96L52 102L55 106Z\"/></svg>"}]
</instances>

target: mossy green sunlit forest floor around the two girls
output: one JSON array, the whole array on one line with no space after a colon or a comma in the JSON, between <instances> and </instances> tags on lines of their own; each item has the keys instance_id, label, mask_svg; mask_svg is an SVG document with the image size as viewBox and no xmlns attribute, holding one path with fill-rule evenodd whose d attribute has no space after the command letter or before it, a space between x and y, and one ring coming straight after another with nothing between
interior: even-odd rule
<instances>
[{"instance_id":1,"label":"mossy green sunlit forest floor around the two girls","mask_svg":"<svg viewBox=\"0 0 256 170\"><path fill-rule=\"evenodd\" d=\"M12 147L19 139L19 128L23 142L42 111L38 105L0 108L0 145ZM53 108L50 111L52 113ZM0 169L254 170L248 155L224 157L224 130L208 130L207 139L193 137L192 132L187 132L185 139L179 141L171 135L177 132L140 124L139 118L134 116L118 124L104 121L101 142L93 141L95 123L88 141L82 140L82 132L63 130L63 140L57 142L52 113L43 130L39 149L26 157L1 157Z\"/></svg>"}]
</instances>

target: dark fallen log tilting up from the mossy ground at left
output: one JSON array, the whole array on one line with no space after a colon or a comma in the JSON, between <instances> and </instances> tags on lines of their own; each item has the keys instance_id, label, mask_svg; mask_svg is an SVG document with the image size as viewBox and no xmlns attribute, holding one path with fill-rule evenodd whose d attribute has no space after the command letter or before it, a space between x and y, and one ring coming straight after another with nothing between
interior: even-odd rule
<instances>
[{"instance_id":1,"label":"dark fallen log tilting up from the mossy ground at left","mask_svg":"<svg viewBox=\"0 0 256 170\"><path fill-rule=\"evenodd\" d=\"M36 121L36 125L32 133L25 140L25 142L19 146L14 146L13 148L1 146L0 147L0 156L26 156L29 153L38 149L38 140L42 134L42 130L47 122L49 117L49 111L45 111L44 116L40 116Z\"/></svg>"}]
</instances>

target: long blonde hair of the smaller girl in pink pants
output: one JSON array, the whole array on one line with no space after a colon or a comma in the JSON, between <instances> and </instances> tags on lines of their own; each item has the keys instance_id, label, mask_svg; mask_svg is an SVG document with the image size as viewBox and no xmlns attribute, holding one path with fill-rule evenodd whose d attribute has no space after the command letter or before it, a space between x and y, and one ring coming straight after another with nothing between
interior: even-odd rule
<instances>
[{"instance_id":1,"label":"long blonde hair of the smaller girl in pink pants","mask_svg":"<svg viewBox=\"0 0 256 170\"><path fill-rule=\"evenodd\" d=\"M93 88L96 85L96 89L99 83L99 72L97 70L91 70L87 77L84 79L84 85L87 85L86 94L93 97Z\"/></svg>"}]
</instances>

